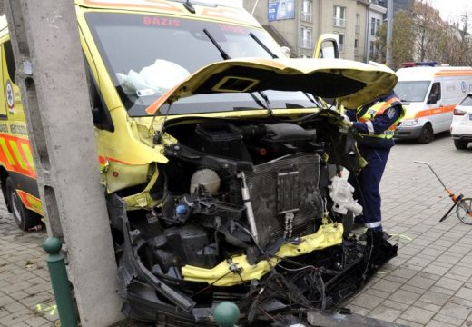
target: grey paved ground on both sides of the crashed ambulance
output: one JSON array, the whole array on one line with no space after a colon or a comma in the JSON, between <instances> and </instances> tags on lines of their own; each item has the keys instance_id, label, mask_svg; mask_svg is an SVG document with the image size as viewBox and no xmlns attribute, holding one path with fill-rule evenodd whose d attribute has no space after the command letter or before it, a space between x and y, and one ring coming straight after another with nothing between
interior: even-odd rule
<instances>
[{"instance_id":1,"label":"grey paved ground on both sides of the crashed ambulance","mask_svg":"<svg viewBox=\"0 0 472 327\"><path fill-rule=\"evenodd\" d=\"M384 225L399 235L398 257L345 306L408 326L472 326L472 225L456 213L438 223L452 202L428 167L413 160L431 163L453 191L472 197L472 149L457 151L447 136L394 147L381 187ZM19 231L0 196L0 327L54 326L45 237Z\"/></svg>"}]
</instances>

